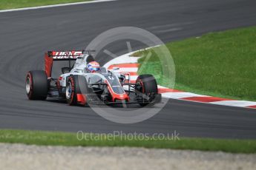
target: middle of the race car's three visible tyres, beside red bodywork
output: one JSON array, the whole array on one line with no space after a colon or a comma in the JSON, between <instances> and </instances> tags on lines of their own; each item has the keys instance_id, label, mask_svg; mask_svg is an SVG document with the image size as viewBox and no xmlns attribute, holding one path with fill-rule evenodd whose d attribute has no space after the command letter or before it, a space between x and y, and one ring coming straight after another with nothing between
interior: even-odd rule
<instances>
[{"instance_id":1,"label":"middle of the race car's three visible tyres, beside red bodywork","mask_svg":"<svg viewBox=\"0 0 256 170\"><path fill-rule=\"evenodd\" d=\"M70 75L68 77L66 85L66 100L69 105L76 106L79 104L86 104L85 94L88 92L87 82L84 76L82 75ZM84 103L81 103L81 98L78 98L78 95L81 95Z\"/></svg>"}]
</instances>

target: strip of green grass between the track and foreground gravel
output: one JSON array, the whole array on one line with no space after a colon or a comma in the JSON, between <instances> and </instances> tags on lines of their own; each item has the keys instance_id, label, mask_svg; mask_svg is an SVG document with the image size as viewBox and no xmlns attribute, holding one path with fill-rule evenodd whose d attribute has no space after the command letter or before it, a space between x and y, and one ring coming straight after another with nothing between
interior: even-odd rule
<instances>
[{"instance_id":1,"label":"strip of green grass between the track and foreground gravel","mask_svg":"<svg viewBox=\"0 0 256 170\"><path fill-rule=\"evenodd\" d=\"M97 135L94 135L97 137ZM81 137L81 135L79 136ZM132 146L156 149L191 149L232 153L256 153L256 140L220 140L209 138L184 138L180 140L125 140L120 136L103 137L102 140L78 140L76 133L0 130L0 143L24 143L39 146Z\"/></svg>"}]
</instances>

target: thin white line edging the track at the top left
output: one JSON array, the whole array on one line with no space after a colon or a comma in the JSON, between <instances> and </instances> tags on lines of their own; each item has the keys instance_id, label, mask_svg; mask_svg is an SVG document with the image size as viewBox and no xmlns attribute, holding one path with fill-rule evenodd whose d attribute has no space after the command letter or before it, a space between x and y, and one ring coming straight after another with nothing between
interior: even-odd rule
<instances>
[{"instance_id":1,"label":"thin white line edging the track at the top left","mask_svg":"<svg viewBox=\"0 0 256 170\"><path fill-rule=\"evenodd\" d=\"M45 5L45 6L39 6L39 7L24 7L24 8L10 9L10 10L0 10L0 13L7 13L7 12L21 11L21 10L38 10L38 9L50 8L50 7L65 7L65 6L76 5L76 4L92 4L92 3L98 3L103 1L117 1L117 0L81 1L81 2L74 2L74 3L67 3L67 4L52 4L52 5Z\"/></svg>"}]
</instances>

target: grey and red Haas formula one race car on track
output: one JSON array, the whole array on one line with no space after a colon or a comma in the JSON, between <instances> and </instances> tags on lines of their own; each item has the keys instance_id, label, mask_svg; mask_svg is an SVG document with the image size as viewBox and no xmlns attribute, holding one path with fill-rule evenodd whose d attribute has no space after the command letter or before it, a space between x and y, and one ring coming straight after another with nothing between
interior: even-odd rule
<instances>
[{"instance_id":1,"label":"grey and red Haas formula one race car on track","mask_svg":"<svg viewBox=\"0 0 256 170\"><path fill-rule=\"evenodd\" d=\"M53 61L69 63L69 67L62 67L59 78L51 77ZM71 61L75 61L73 67ZM45 70L27 72L27 97L30 100L65 99L70 105L138 103L146 106L161 102L153 75L139 75L131 84L129 73L118 72L119 68L99 67L97 72L89 72L87 66L93 61L90 52L85 54L85 51L45 53Z\"/></svg>"}]
</instances>

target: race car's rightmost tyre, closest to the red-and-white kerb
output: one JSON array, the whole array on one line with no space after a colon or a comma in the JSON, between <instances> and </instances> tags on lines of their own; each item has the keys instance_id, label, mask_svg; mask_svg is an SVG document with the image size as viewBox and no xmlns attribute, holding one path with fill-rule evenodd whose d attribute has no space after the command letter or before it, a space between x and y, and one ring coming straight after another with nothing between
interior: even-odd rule
<instances>
[{"instance_id":1,"label":"race car's rightmost tyre, closest to the red-and-white kerb","mask_svg":"<svg viewBox=\"0 0 256 170\"><path fill-rule=\"evenodd\" d=\"M137 93L151 97L158 94L157 81L153 75L139 75L136 80ZM147 106L148 103L140 103L140 106Z\"/></svg>"}]
</instances>

